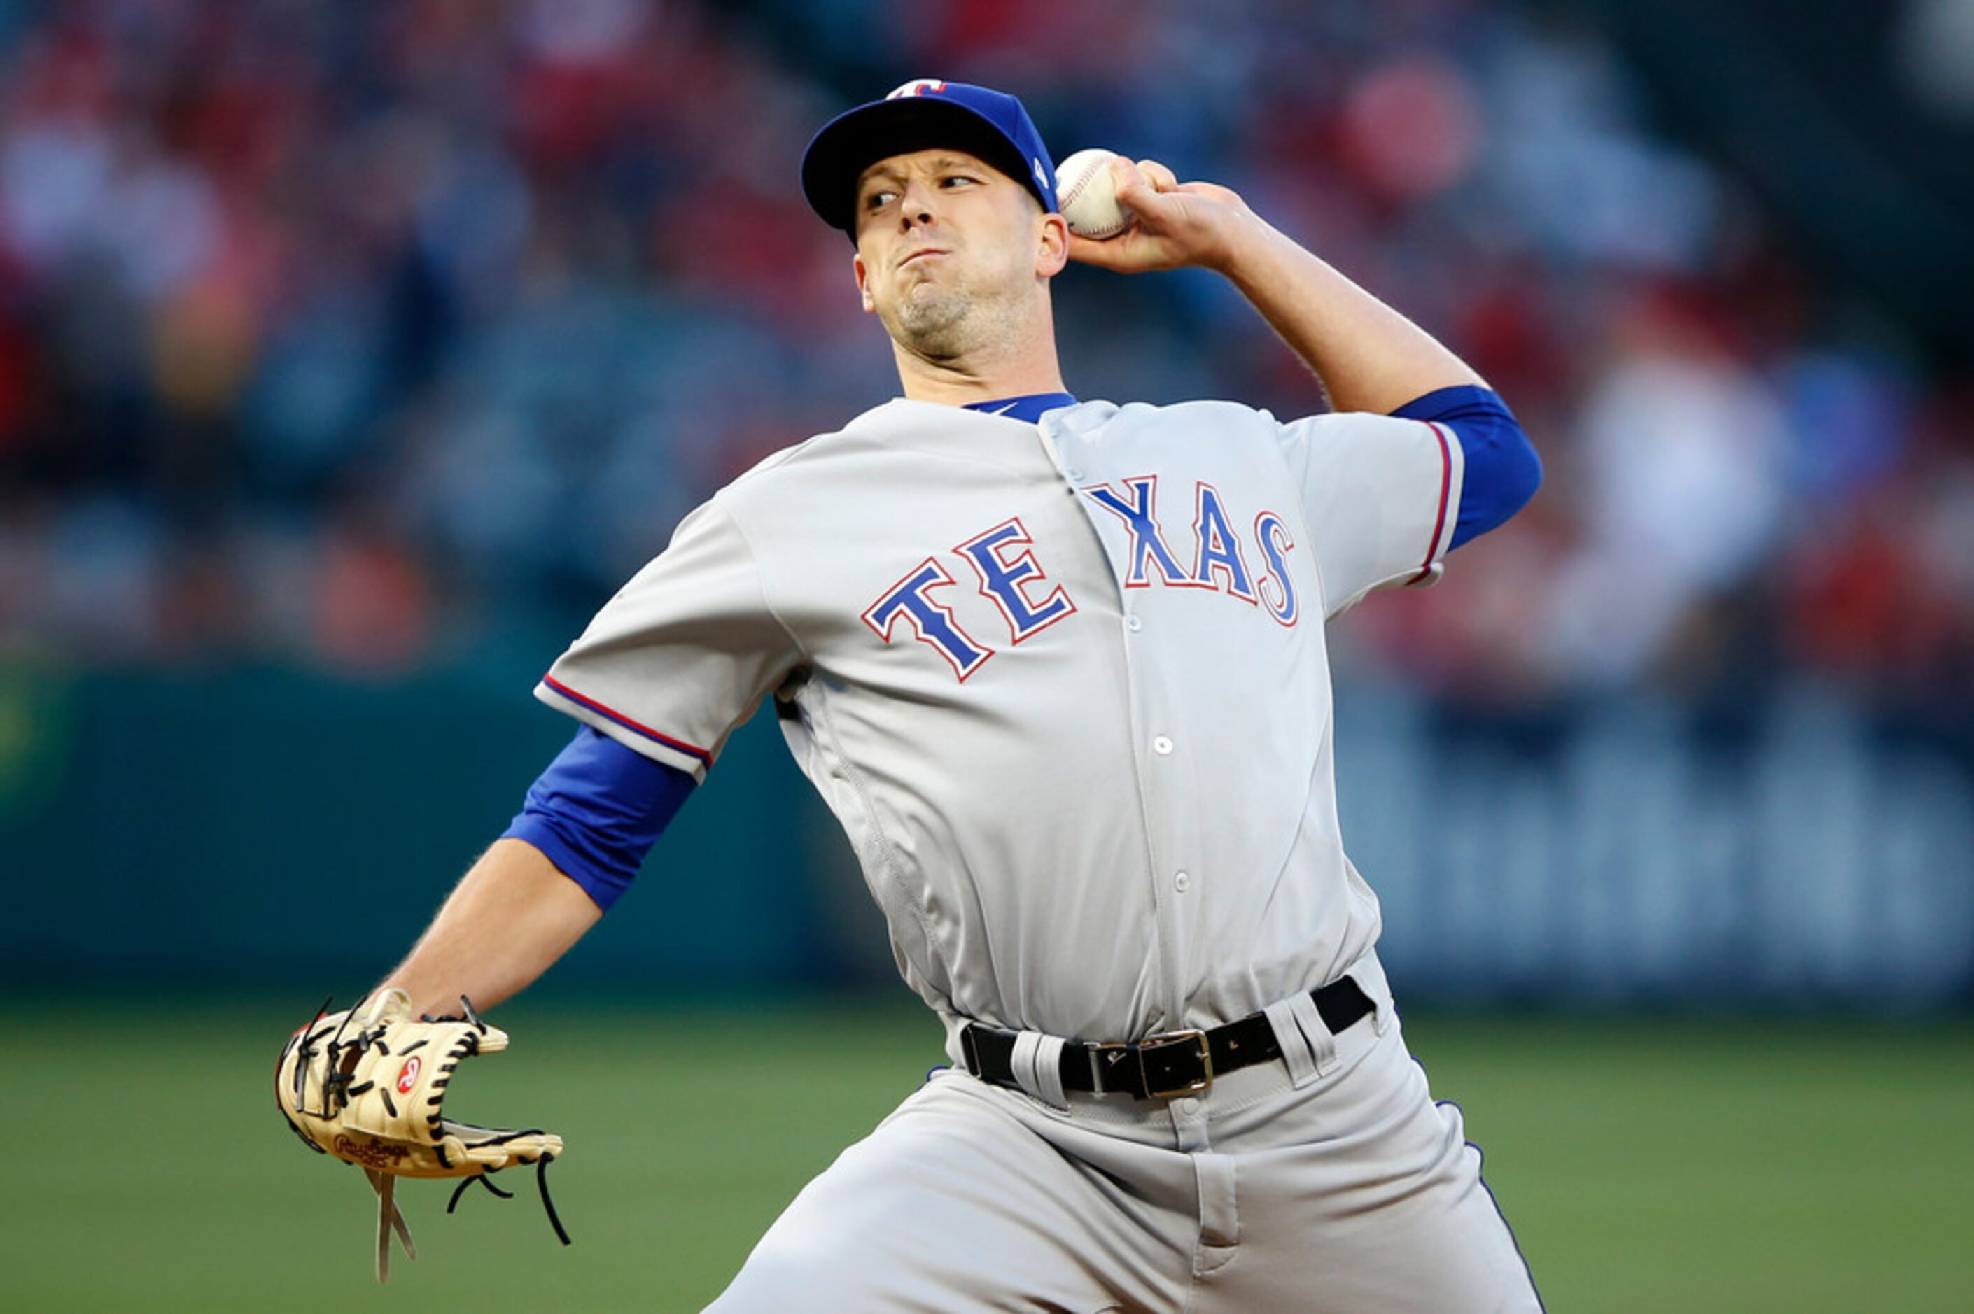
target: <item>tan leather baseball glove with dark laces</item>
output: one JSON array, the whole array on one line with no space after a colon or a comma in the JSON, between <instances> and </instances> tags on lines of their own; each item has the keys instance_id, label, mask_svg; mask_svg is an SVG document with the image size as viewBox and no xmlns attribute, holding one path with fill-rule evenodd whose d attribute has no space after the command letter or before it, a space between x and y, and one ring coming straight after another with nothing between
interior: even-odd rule
<instances>
[{"instance_id":1,"label":"tan leather baseball glove with dark laces","mask_svg":"<svg viewBox=\"0 0 1974 1314\"><path fill-rule=\"evenodd\" d=\"M418 1257L397 1207L399 1178L464 1178L446 1205L452 1213L474 1182L509 1196L488 1174L537 1164L541 1204L569 1245L549 1200L549 1164L563 1152L563 1138L444 1117L446 1085L460 1059L507 1048L507 1032L482 1022L466 998L460 1004L460 1018L413 1018L409 994L381 990L355 1008L318 1014L288 1038L274 1069L274 1103L288 1127L312 1150L363 1168L377 1192L379 1282L391 1277L393 1229L405 1257Z\"/></svg>"}]
</instances>

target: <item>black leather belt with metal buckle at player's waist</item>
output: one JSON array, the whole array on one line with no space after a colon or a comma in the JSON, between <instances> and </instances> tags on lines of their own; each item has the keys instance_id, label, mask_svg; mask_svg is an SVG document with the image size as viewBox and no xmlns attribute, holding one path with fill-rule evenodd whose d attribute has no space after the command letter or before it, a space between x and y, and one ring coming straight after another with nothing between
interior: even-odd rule
<instances>
[{"instance_id":1,"label":"black leather belt with metal buckle at player's waist","mask_svg":"<svg viewBox=\"0 0 1974 1314\"><path fill-rule=\"evenodd\" d=\"M1338 977L1309 992L1317 1016L1330 1034L1358 1022L1374 1004L1350 977ZM967 1069L981 1081L1013 1085L1015 1032L1001 1032L979 1022L967 1022L959 1032L959 1048ZM1216 1075L1226 1075L1252 1063L1281 1058L1275 1028L1267 1014L1250 1012L1240 1022L1216 1026L1210 1032L1161 1032L1139 1042L1076 1042L1062 1046L1062 1089L1096 1091L1100 1095L1127 1093L1139 1099L1169 1099L1204 1091Z\"/></svg>"}]
</instances>

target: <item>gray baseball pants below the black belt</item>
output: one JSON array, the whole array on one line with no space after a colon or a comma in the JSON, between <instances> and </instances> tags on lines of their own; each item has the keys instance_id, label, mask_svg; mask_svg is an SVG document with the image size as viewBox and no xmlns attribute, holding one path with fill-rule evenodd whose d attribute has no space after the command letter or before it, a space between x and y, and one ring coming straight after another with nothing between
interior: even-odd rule
<instances>
[{"instance_id":1,"label":"gray baseball pants below the black belt","mask_svg":"<svg viewBox=\"0 0 1974 1314\"><path fill-rule=\"evenodd\" d=\"M940 1071L803 1188L711 1308L1540 1310L1480 1150L1376 985L1374 1018L1334 1038L1277 1020L1287 1061L1198 1097L1058 1109Z\"/></svg>"}]
</instances>

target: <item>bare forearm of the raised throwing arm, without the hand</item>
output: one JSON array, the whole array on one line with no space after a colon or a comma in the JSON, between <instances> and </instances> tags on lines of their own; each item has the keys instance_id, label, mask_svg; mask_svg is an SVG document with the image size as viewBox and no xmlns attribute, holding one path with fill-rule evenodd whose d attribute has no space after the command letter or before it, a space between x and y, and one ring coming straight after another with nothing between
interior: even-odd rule
<instances>
[{"instance_id":1,"label":"bare forearm of the raised throwing arm, without the hand","mask_svg":"<svg viewBox=\"0 0 1974 1314\"><path fill-rule=\"evenodd\" d=\"M1246 215L1222 272L1323 381L1336 410L1390 414L1433 389L1486 385L1417 324Z\"/></svg>"}]
</instances>

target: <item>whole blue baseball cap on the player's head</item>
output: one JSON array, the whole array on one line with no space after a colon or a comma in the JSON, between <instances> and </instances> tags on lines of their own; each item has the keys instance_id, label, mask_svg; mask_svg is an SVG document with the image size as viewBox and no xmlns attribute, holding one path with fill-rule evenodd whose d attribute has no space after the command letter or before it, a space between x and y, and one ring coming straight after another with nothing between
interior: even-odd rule
<instances>
[{"instance_id":1,"label":"whole blue baseball cap on the player's head","mask_svg":"<svg viewBox=\"0 0 1974 1314\"><path fill-rule=\"evenodd\" d=\"M833 229L857 235L857 180L888 156L953 146L1028 185L1042 209L1056 205L1056 164L1021 101L1005 91L920 77L882 101L837 114L801 156L801 191Z\"/></svg>"}]
</instances>

